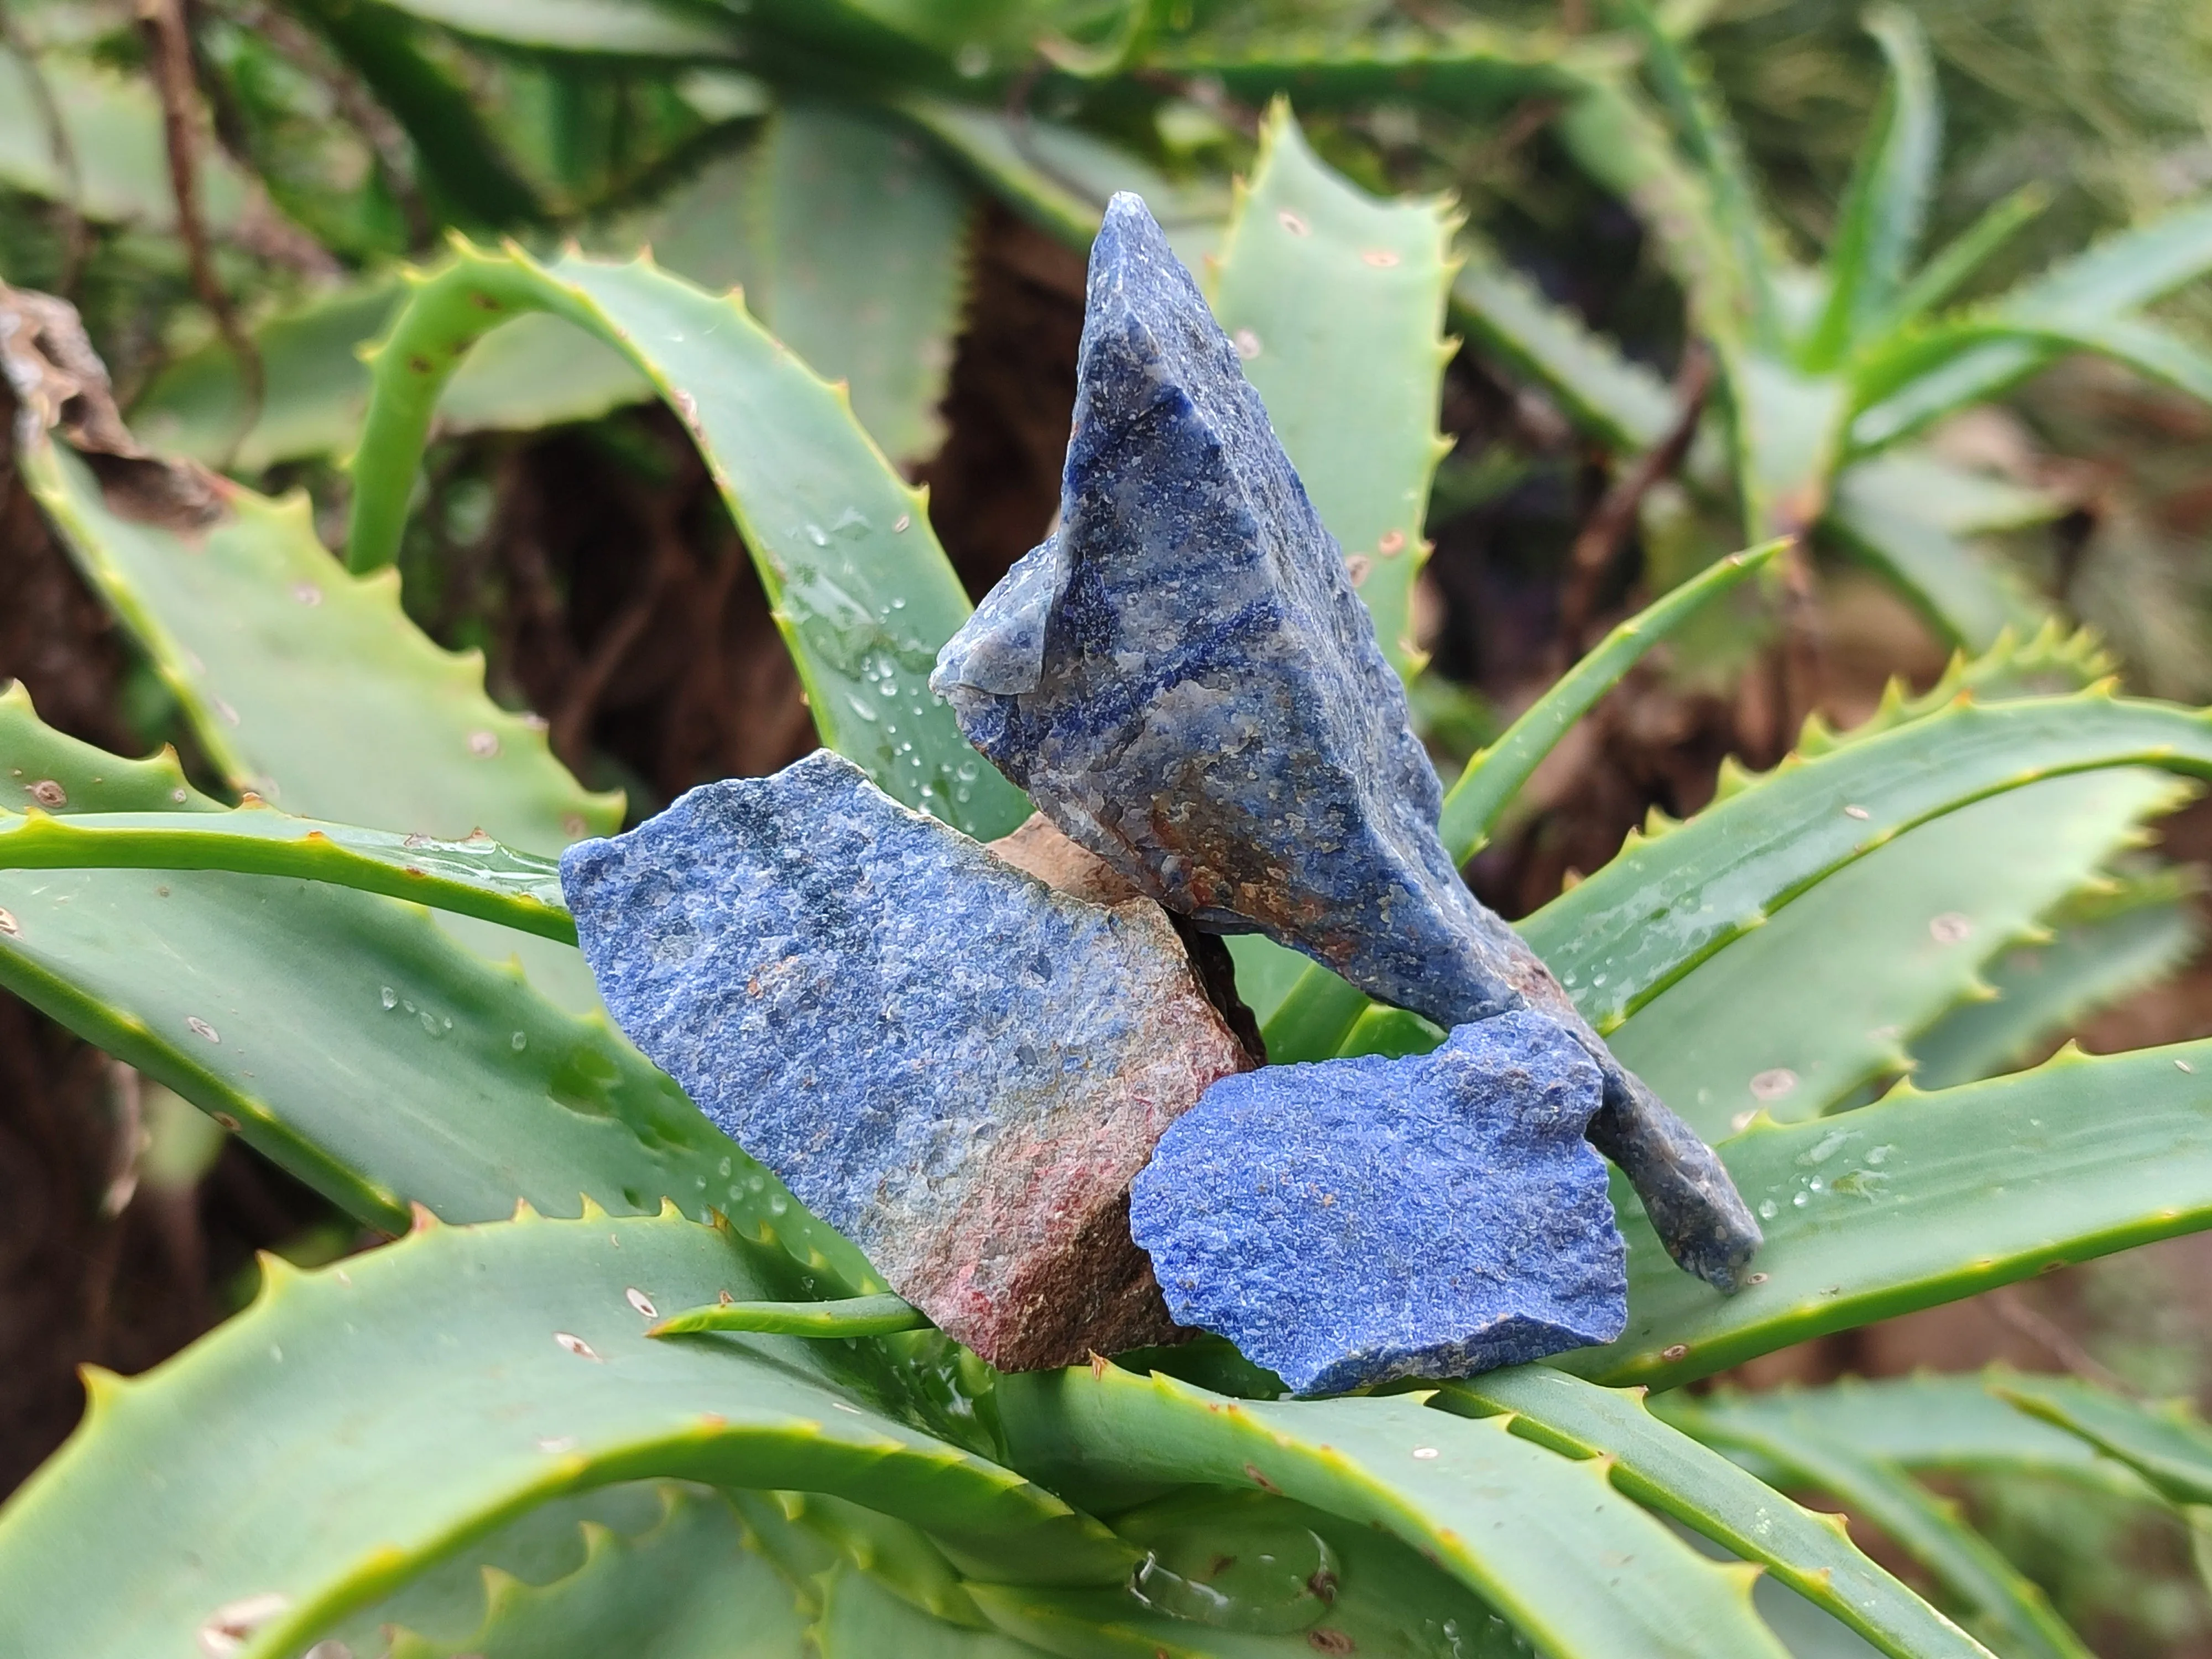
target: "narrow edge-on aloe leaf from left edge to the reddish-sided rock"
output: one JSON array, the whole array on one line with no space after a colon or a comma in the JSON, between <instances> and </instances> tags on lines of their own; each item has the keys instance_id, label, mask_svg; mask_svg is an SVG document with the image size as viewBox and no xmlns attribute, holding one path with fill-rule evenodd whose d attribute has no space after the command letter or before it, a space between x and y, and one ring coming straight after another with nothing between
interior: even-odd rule
<instances>
[{"instance_id":1,"label":"narrow edge-on aloe leaf from left edge to the reddish-sided rock","mask_svg":"<svg viewBox=\"0 0 2212 1659\"><path fill-rule=\"evenodd\" d=\"M0 810L0 869L228 869L299 876L476 916L573 945L560 865L491 836L431 841L294 818L250 803L230 812Z\"/></svg>"}]
</instances>

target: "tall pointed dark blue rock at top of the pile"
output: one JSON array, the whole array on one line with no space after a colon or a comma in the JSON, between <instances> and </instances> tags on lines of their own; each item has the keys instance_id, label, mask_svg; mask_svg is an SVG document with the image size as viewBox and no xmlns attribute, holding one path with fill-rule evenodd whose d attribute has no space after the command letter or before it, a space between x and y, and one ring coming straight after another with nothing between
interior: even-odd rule
<instances>
[{"instance_id":1,"label":"tall pointed dark blue rock at top of the pile","mask_svg":"<svg viewBox=\"0 0 2212 1659\"><path fill-rule=\"evenodd\" d=\"M1467 891L1343 551L1133 195L1091 250L1060 513L938 655L929 684L969 741L1201 927L1263 931L1447 1029L1555 1018L1606 1075L1590 1139L1674 1259L1734 1287L1759 1223Z\"/></svg>"}]
</instances>

